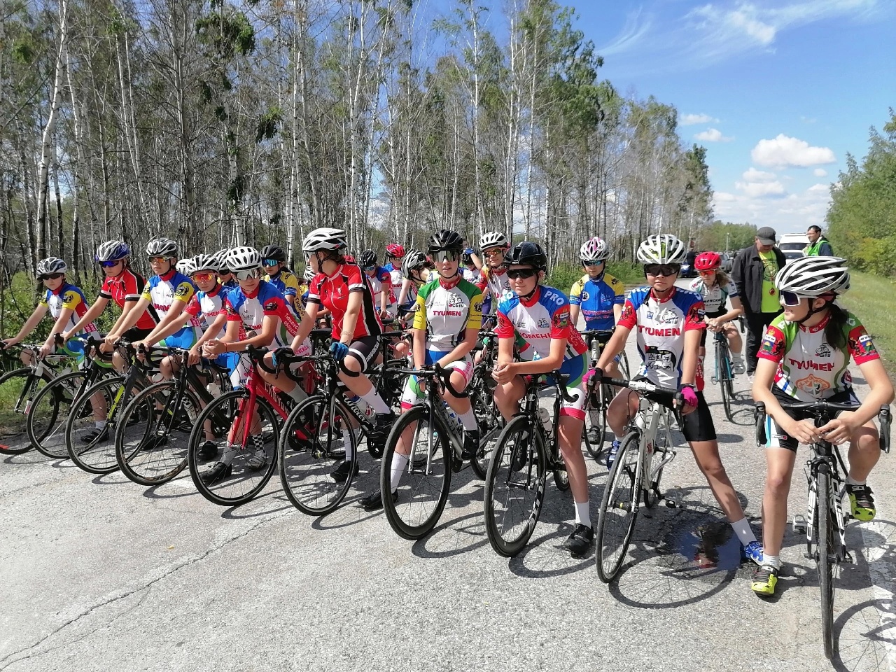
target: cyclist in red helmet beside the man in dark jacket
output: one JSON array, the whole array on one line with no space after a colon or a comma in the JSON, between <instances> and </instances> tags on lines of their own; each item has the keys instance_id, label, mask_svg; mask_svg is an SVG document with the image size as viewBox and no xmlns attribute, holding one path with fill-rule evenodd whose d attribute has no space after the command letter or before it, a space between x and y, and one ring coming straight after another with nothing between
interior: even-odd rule
<instances>
[{"instance_id":1,"label":"cyclist in red helmet beside the man in dark jacket","mask_svg":"<svg viewBox=\"0 0 896 672\"><path fill-rule=\"evenodd\" d=\"M744 306L737 296L737 286L734 280L728 278L728 273L722 271L722 258L715 252L702 252L697 254L694 260L694 269L700 274L689 287L703 297L703 306L706 310L706 330L710 332L725 332L728 339L728 350L731 353L731 373L743 374L746 370L744 357L740 353L741 338L737 333L737 326L731 320L744 314ZM731 299L731 310L726 307L726 302ZM702 371L703 357L706 355L706 330L700 334L700 369Z\"/></svg>"}]
</instances>

